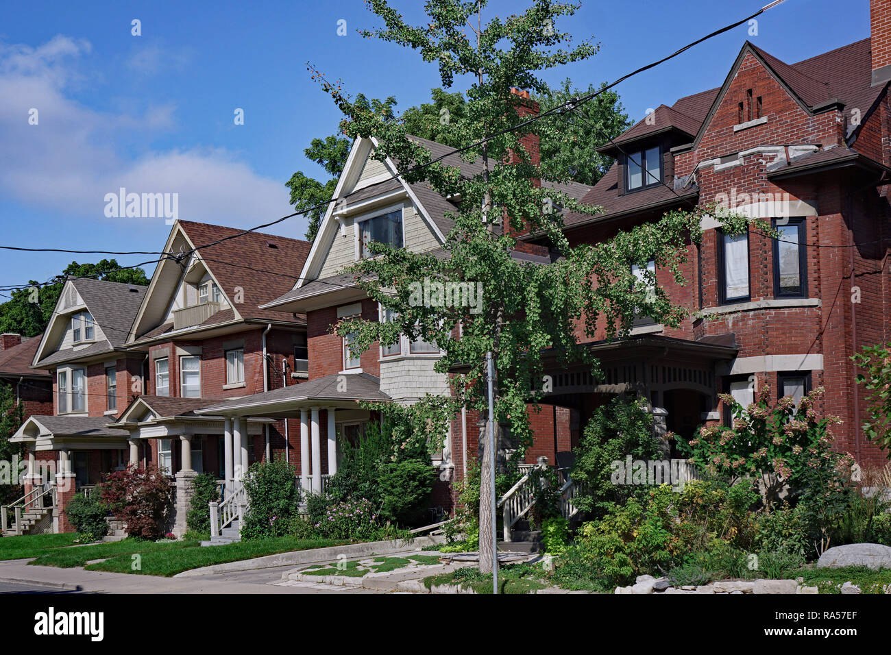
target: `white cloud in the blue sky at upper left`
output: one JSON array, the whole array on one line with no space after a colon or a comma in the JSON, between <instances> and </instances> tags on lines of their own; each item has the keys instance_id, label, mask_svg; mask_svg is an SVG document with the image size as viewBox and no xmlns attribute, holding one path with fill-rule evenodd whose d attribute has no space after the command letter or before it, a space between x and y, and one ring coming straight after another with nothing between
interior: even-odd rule
<instances>
[{"instance_id":1,"label":"white cloud in the blue sky at upper left","mask_svg":"<svg viewBox=\"0 0 891 655\"><path fill-rule=\"evenodd\" d=\"M263 223L290 212L280 180L257 175L232 153L197 147L123 153L120 143L151 143L174 122L173 105L141 115L95 111L74 100L78 57L90 44L54 37L44 45L0 44L0 194L72 218L109 219L104 196L177 192L179 217L223 225ZM148 61L148 60L146 60ZM38 125L29 125L29 110Z\"/></svg>"}]
</instances>

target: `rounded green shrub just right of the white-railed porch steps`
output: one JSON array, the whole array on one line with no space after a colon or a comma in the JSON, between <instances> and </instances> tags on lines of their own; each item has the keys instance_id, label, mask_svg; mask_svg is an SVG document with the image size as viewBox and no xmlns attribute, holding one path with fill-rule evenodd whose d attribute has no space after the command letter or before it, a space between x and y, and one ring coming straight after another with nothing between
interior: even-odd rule
<instances>
[{"instance_id":1,"label":"rounded green shrub just right of the white-railed porch steps","mask_svg":"<svg viewBox=\"0 0 891 655\"><path fill-rule=\"evenodd\" d=\"M300 502L296 475L297 469L284 457L251 464L243 480L250 506L241 526L242 539L289 534Z\"/></svg>"}]
</instances>

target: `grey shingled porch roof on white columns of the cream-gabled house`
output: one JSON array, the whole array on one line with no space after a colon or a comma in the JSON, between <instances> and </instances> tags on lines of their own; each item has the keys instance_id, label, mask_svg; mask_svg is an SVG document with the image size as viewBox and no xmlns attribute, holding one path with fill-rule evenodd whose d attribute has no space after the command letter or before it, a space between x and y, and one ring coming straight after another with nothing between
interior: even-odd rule
<instances>
[{"instance_id":1,"label":"grey shingled porch roof on white columns of the cream-gabled house","mask_svg":"<svg viewBox=\"0 0 891 655\"><path fill-rule=\"evenodd\" d=\"M380 378L368 373L339 373L195 410L204 414L273 414L309 405L355 405L357 400L388 401Z\"/></svg>"}]
</instances>

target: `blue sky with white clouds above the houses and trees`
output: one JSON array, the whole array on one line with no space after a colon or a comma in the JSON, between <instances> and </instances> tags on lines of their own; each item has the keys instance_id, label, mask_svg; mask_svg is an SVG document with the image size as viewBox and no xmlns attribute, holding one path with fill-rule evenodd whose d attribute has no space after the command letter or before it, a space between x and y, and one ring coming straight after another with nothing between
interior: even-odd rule
<instances>
[{"instance_id":1,"label":"blue sky with white clouds above the houses and trees","mask_svg":"<svg viewBox=\"0 0 891 655\"><path fill-rule=\"evenodd\" d=\"M767 0L594 2L558 26L601 52L546 79L599 84L754 13ZM421 22L422 4L393 0ZM492 2L506 15L523 2ZM131 35L141 20L142 36ZM347 36L337 35L338 20ZM339 115L310 80L311 61L348 93L396 95L397 109L429 100L437 70L411 51L364 39L380 21L360 0L325 2L7 3L0 24L0 245L160 250L159 218L105 217L104 194L178 192L179 216L249 227L289 213L295 170L323 176L303 149ZM748 27L716 37L625 81L634 118L723 82L748 38L799 61L869 36L868 0L786 0ZM460 88L460 87L456 87ZM37 125L29 110L37 109ZM244 125L233 111L244 110ZM302 238L306 220L276 233ZM0 285L43 281L72 259L101 255L0 251ZM119 257L135 264L147 256ZM151 266L149 273L151 274ZM2 300L2 298L0 298Z\"/></svg>"}]
</instances>

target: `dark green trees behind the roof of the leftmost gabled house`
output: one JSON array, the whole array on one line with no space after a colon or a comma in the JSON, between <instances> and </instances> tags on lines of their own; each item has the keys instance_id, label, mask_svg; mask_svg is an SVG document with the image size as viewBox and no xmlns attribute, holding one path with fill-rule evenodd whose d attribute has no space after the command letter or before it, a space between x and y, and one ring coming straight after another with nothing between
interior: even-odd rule
<instances>
[{"instance_id":1,"label":"dark green trees behind the roof of the leftmost gabled house","mask_svg":"<svg viewBox=\"0 0 891 655\"><path fill-rule=\"evenodd\" d=\"M17 332L23 337L34 337L43 332L53 317L56 302L69 276L143 286L149 283L142 268L122 268L117 259L102 259L96 264L73 261L49 282L31 280L30 288L12 291L12 298L0 305L0 332Z\"/></svg>"}]
</instances>

